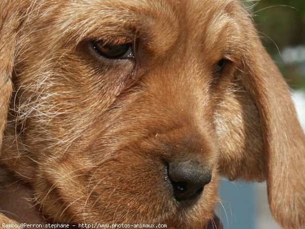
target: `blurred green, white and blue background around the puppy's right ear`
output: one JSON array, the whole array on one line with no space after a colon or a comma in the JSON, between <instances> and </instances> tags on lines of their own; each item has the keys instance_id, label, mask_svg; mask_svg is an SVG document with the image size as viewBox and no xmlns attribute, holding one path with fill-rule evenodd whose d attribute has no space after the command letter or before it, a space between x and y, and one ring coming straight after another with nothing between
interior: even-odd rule
<instances>
[{"instance_id":1,"label":"blurred green, white and blue background around the puppy's right ear","mask_svg":"<svg viewBox=\"0 0 305 229\"><path fill-rule=\"evenodd\" d=\"M261 40L291 87L292 98L305 130L305 0L243 1ZM266 183L220 184L222 203L216 209L224 229L280 229L273 220Z\"/></svg>"}]
</instances>

